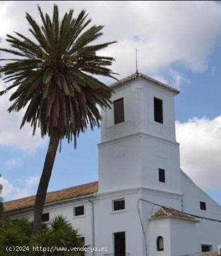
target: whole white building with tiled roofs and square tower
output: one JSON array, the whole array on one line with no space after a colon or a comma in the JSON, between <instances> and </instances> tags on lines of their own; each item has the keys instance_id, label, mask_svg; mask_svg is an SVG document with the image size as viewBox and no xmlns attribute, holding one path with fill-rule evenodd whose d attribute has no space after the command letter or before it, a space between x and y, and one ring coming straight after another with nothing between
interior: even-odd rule
<instances>
[{"instance_id":1,"label":"whole white building with tiled roofs and square tower","mask_svg":"<svg viewBox=\"0 0 221 256\"><path fill-rule=\"evenodd\" d=\"M44 220L62 214L86 244L108 248L93 256L217 250L221 207L180 169L178 90L141 73L111 87L114 105L102 110L99 181L48 193ZM34 196L9 201L6 214L32 218L33 205Z\"/></svg>"}]
</instances>

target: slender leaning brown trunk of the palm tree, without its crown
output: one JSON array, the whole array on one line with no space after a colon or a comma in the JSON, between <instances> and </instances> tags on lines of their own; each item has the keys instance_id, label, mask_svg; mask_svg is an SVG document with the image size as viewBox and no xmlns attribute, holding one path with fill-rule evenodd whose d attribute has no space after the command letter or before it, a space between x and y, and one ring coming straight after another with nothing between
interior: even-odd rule
<instances>
[{"instance_id":1,"label":"slender leaning brown trunk of the palm tree, without its crown","mask_svg":"<svg viewBox=\"0 0 221 256\"><path fill-rule=\"evenodd\" d=\"M39 187L37 188L37 194L35 199L34 208L34 224L32 228L32 234L35 234L41 230L41 217L43 213L45 198L47 194L48 184L50 181L53 164L55 162L55 156L57 152L57 147L59 146L59 133L51 134L48 151L44 161L44 168L41 174L41 179L39 181Z\"/></svg>"}]
</instances>

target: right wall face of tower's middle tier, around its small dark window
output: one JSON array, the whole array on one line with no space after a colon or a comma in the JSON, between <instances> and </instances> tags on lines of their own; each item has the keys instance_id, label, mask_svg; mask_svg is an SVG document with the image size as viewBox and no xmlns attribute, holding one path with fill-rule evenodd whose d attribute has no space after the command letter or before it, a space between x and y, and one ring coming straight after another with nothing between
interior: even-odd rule
<instances>
[{"instance_id":1,"label":"right wall face of tower's middle tier, around its small dark window","mask_svg":"<svg viewBox=\"0 0 221 256\"><path fill-rule=\"evenodd\" d=\"M159 182L159 168L165 170L165 183ZM143 135L141 176L141 187L181 193L179 145Z\"/></svg>"}]
</instances>

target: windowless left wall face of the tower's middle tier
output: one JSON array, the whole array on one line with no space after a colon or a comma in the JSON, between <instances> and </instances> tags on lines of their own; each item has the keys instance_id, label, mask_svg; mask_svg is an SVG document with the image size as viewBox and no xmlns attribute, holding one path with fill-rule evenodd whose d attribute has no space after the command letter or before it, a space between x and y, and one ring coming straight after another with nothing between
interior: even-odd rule
<instances>
[{"instance_id":1,"label":"windowless left wall face of the tower's middle tier","mask_svg":"<svg viewBox=\"0 0 221 256\"><path fill-rule=\"evenodd\" d=\"M99 146L99 192L141 187L141 138L132 136Z\"/></svg>"}]
</instances>

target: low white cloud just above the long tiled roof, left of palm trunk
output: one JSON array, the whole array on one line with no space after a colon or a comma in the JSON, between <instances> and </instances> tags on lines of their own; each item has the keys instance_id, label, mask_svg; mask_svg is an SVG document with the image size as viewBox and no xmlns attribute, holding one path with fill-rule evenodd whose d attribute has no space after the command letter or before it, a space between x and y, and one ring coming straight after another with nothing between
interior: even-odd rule
<instances>
[{"instance_id":1,"label":"low white cloud just above the long tiled roof, left of palm trunk","mask_svg":"<svg viewBox=\"0 0 221 256\"><path fill-rule=\"evenodd\" d=\"M21 186L15 186L4 177L0 177L0 184L2 184L2 194L4 201L19 199L26 196L31 196L36 193L35 189L39 183L39 177L30 176L22 181Z\"/></svg>"}]
</instances>

